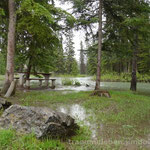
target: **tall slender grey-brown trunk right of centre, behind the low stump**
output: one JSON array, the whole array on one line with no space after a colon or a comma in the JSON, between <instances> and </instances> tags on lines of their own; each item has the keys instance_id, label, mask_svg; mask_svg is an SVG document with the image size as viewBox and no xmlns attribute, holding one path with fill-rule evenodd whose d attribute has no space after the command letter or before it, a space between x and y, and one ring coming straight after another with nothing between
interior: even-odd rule
<instances>
[{"instance_id":1,"label":"tall slender grey-brown trunk right of centre, behind the low stump","mask_svg":"<svg viewBox=\"0 0 150 150\"><path fill-rule=\"evenodd\" d=\"M97 74L95 90L100 90L100 75L101 75L101 51L102 51L102 2L99 0L99 35L98 35L98 57L97 57Z\"/></svg>"}]
</instances>

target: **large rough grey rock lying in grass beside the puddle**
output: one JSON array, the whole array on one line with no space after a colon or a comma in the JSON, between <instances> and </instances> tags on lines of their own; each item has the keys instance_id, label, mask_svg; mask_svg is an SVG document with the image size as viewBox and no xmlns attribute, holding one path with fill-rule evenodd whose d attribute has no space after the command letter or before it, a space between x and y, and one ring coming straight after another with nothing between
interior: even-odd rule
<instances>
[{"instance_id":1,"label":"large rough grey rock lying in grass beside the puddle","mask_svg":"<svg viewBox=\"0 0 150 150\"><path fill-rule=\"evenodd\" d=\"M12 105L0 118L0 127L13 128L22 133L35 133L37 138L65 138L78 129L69 115L46 107Z\"/></svg>"}]
</instances>

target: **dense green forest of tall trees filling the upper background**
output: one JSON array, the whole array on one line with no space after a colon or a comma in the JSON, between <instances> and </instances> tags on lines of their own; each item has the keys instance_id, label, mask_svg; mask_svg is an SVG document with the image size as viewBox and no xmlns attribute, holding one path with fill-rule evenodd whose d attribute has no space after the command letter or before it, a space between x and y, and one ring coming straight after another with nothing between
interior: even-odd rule
<instances>
[{"instance_id":1,"label":"dense green forest of tall trees filling the upper background","mask_svg":"<svg viewBox=\"0 0 150 150\"><path fill-rule=\"evenodd\" d=\"M8 1L0 2L0 73L8 71L8 64L14 72L27 71L28 77L38 71L80 72L97 74L99 82L103 74L124 73L136 90L136 75L150 73L149 1L59 2L72 4L72 13L56 7L53 0L13 0L9 7ZM75 59L73 30L86 35L80 62ZM6 63L8 55L12 59Z\"/></svg>"}]
</instances>

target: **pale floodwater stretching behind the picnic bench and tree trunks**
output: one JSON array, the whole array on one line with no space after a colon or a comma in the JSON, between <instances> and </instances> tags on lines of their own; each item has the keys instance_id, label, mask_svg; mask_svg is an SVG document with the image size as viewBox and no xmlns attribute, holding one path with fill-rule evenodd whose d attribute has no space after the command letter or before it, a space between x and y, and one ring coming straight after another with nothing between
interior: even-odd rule
<instances>
[{"instance_id":1,"label":"pale floodwater stretching behind the picnic bench and tree trunks","mask_svg":"<svg viewBox=\"0 0 150 150\"><path fill-rule=\"evenodd\" d=\"M56 79L55 91L92 91L95 86L95 81L92 77L77 77L77 78L67 78L72 81L78 81L81 86L63 86L62 81L66 78L54 77ZM2 81L0 81L0 87L2 87ZM87 87L86 84L89 86ZM36 85L38 87L38 81L31 82L31 85ZM107 90L129 90L130 82L101 82L101 88ZM51 90L51 89L44 89ZM150 95L150 83L137 83L137 91Z\"/></svg>"}]
</instances>

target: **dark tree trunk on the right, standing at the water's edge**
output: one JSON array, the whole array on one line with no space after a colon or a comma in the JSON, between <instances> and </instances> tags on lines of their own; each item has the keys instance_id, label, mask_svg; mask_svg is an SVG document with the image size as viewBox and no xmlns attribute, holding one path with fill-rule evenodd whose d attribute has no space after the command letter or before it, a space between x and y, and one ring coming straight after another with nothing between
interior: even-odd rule
<instances>
[{"instance_id":1,"label":"dark tree trunk on the right, standing at the water's edge","mask_svg":"<svg viewBox=\"0 0 150 150\"><path fill-rule=\"evenodd\" d=\"M136 78L137 51L138 51L137 40L138 40L138 38L136 35L134 45L133 45L133 57L132 57L132 75L131 75L131 86L130 86L130 90L132 90L132 91L136 91L136 88L137 88L137 78Z\"/></svg>"}]
</instances>

